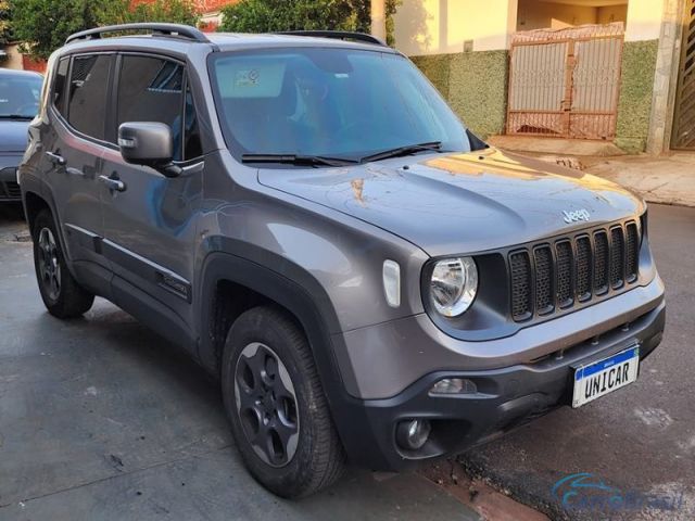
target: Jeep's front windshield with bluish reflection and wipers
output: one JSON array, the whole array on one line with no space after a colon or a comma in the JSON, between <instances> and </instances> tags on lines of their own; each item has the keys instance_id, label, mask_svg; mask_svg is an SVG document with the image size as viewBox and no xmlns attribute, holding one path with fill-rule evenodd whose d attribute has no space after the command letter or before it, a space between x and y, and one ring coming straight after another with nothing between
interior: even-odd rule
<instances>
[{"instance_id":1,"label":"Jeep's front windshield with bluish reflection and wipers","mask_svg":"<svg viewBox=\"0 0 695 521\"><path fill-rule=\"evenodd\" d=\"M296 48L213 56L218 113L236 154L357 161L419 143L470 150L458 118L397 54ZM432 148L412 152L421 150Z\"/></svg>"}]
</instances>

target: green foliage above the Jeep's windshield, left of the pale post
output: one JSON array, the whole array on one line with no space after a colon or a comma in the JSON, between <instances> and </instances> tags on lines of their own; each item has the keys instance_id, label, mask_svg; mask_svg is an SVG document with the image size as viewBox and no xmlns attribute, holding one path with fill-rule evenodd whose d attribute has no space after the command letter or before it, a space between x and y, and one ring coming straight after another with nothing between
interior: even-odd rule
<instances>
[{"instance_id":1,"label":"green foliage above the Jeep's windshield, left of the pale post","mask_svg":"<svg viewBox=\"0 0 695 521\"><path fill-rule=\"evenodd\" d=\"M241 0L223 9L220 30L357 30L369 33L368 0Z\"/></svg>"}]
</instances>

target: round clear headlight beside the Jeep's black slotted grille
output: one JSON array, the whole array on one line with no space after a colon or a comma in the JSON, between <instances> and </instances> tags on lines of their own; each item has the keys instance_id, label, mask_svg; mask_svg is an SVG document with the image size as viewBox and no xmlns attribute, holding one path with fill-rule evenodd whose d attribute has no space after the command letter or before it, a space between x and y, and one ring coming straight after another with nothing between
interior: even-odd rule
<instances>
[{"instance_id":1,"label":"round clear headlight beside the Jeep's black slotted grille","mask_svg":"<svg viewBox=\"0 0 695 521\"><path fill-rule=\"evenodd\" d=\"M430 280L430 298L445 317L463 314L476 297L478 268L470 257L445 258L434 265Z\"/></svg>"}]
</instances>

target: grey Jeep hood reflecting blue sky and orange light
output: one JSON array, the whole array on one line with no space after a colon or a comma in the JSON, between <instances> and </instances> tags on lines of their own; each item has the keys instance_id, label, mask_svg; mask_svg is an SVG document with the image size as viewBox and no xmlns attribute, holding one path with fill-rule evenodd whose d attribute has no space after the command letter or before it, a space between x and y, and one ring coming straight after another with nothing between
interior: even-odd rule
<instances>
[{"instance_id":1,"label":"grey Jeep hood reflecting blue sky and orange light","mask_svg":"<svg viewBox=\"0 0 695 521\"><path fill-rule=\"evenodd\" d=\"M488 149L341 168L258 170L267 187L378 226L431 256L521 244L640 214L642 200L605 179ZM586 209L590 221L565 223Z\"/></svg>"}]
</instances>

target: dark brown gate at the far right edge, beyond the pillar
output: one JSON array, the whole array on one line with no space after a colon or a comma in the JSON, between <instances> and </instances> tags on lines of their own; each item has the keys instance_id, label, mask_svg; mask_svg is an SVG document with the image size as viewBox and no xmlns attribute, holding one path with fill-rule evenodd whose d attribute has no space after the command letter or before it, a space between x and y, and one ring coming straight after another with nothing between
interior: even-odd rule
<instances>
[{"instance_id":1,"label":"dark brown gate at the far right edge, beyond the pillar","mask_svg":"<svg viewBox=\"0 0 695 521\"><path fill-rule=\"evenodd\" d=\"M695 0L686 0L672 148L695 150Z\"/></svg>"}]
</instances>

